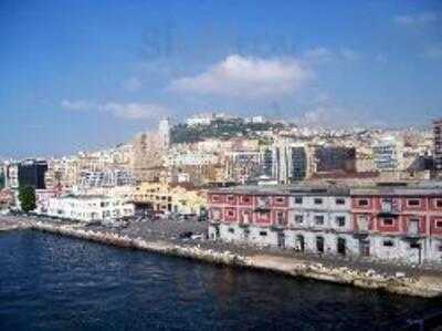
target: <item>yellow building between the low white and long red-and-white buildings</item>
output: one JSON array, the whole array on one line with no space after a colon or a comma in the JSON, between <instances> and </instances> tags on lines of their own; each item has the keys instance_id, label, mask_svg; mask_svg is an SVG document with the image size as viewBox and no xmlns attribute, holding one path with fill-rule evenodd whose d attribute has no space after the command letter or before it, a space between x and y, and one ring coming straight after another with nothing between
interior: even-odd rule
<instances>
[{"instance_id":1,"label":"yellow building between the low white and long red-and-white buildings","mask_svg":"<svg viewBox=\"0 0 442 331\"><path fill-rule=\"evenodd\" d=\"M156 211L200 215L207 208L207 192L189 184L144 182L135 187L135 203L149 205Z\"/></svg>"}]
</instances>

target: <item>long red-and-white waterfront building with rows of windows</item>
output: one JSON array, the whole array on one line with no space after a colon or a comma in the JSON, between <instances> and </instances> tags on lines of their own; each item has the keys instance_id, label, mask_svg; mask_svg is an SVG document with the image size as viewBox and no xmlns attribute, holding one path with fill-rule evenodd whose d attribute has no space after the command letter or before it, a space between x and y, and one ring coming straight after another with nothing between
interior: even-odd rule
<instances>
[{"instance_id":1,"label":"long red-and-white waterfront building with rows of windows","mask_svg":"<svg viewBox=\"0 0 442 331\"><path fill-rule=\"evenodd\" d=\"M442 187L209 192L209 236L319 255L442 263Z\"/></svg>"}]
</instances>

